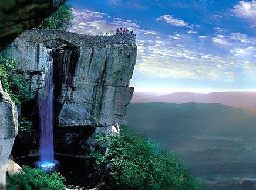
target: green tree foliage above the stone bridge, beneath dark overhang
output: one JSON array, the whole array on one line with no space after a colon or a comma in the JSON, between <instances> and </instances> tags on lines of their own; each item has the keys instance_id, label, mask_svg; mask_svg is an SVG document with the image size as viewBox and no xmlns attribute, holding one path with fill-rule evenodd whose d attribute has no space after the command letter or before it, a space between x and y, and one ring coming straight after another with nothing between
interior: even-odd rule
<instances>
[{"instance_id":1,"label":"green tree foliage above the stone bridge, beneath dark overhang","mask_svg":"<svg viewBox=\"0 0 256 190\"><path fill-rule=\"evenodd\" d=\"M70 5L62 5L52 16L38 25L39 29L68 30L73 25L73 13Z\"/></svg>"}]
</instances>

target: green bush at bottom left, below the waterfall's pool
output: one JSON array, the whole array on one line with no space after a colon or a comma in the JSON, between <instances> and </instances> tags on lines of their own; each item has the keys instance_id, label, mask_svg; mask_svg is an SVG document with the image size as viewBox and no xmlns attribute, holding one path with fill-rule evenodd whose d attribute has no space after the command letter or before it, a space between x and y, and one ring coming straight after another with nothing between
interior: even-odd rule
<instances>
[{"instance_id":1,"label":"green bush at bottom left, below the waterfall's pool","mask_svg":"<svg viewBox=\"0 0 256 190\"><path fill-rule=\"evenodd\" d=\"M32 169L29 167L23 167L23 171L24 174L14 174L8 178L7 190L66 189L63 185L65 179L57 172L46 174L39 168Z\"/></svg>"}]
</instances>

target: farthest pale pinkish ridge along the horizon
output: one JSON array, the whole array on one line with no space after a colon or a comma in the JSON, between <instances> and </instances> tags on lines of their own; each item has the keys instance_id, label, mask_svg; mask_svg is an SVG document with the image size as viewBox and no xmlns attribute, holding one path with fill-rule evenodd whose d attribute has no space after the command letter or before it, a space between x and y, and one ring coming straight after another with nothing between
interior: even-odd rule
<instances>
[{"instance_id":1,"label":"farthest pale pinkish ridge along the horizon","mask_svg":"<svg viewBox=\"0 0 256 190\"><path fill-rule=\"evenodd\" d=\"M256 92L212 92L200 93L174 93L157 95L148 92L135 92L132 103L221 103L237 108L256 110Z\"/></svg>"}]
</instances>

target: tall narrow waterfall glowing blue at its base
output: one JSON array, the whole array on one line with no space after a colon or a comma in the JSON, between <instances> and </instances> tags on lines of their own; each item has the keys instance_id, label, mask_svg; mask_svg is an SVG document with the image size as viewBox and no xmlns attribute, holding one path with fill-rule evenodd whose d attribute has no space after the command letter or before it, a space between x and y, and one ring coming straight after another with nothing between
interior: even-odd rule
<instances>
[{"instance_id":1,"label":"tall narrow waterfall glowing blue at its base","mask_svg":"<svg viewBox=\"0 0 256 190\"><path fill-rule=\"evenodd\" d=\"M40 160L36 163L42 170L52 170L58 163L53 149L53 61L52 50L47 49L45 61L45 85L38 93L40 121Z\"/></svg>"}]
</instances>

